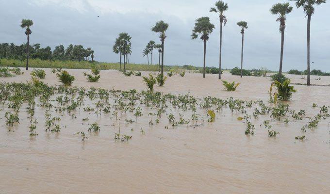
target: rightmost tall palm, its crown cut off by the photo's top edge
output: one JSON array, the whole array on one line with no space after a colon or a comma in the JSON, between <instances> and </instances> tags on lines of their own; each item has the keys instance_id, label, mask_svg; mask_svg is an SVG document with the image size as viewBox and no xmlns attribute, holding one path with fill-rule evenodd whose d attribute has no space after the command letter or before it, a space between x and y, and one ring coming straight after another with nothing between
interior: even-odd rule
<instances>
[{"instance_id":1,"label":"rightmost tall palm, its crown cut off by the photo's top edge","mask_svg":"<svg viewBox=\"0 0 330 194\"><path fill-rule=\"evenodd\" d=\"M295 0L297 8L303 7L307 16L307 85L311 85L310 68L310 40L311 40L311 19L314 14L314 5L326 3L326 0Z\"/></svg>"}]
</instances>

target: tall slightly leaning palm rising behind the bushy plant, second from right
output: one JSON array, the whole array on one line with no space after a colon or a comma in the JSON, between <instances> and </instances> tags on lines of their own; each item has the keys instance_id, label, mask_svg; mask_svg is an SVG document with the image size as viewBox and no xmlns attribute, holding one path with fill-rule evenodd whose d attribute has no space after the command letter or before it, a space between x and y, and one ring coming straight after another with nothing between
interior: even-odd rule
<instances>
[{"instance_id":1,"label":"tall slightly leaning palm rising behind the bushy plant, second from right","mask_svg":"<svg viewBox=\"0 0 330 194\"><path fill-rule=\"evenodd\" d=\"M283 64L283 49L284 49L284 31L285 31L285 21L286 15L291 13L293 7L290 6L289 3L277 3L273 5L270 12L274 15L279 15L279 18L276 21L280 22L280 32L281 32L281 58L280 58L280 70L279 70L279 78L282 75L282 64Z\"/></svg>"}]
</instances>

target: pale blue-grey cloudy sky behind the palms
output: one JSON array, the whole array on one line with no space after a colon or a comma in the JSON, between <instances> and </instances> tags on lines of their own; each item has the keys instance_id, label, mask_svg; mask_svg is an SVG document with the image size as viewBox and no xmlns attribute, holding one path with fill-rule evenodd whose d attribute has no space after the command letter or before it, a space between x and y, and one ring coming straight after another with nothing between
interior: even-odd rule
<instances>
[{"instance_id":1,"label":"pale blue-grey cloudy sky behind the palms","mask_svg":"<svg viewBox=\"0 0 330 194\"><path fill-rule=\"evenodd\" d=\"M202 41L191 40L196 18L209 16L215 25L207 45L207 66L218 66L218 16L209 13L215 0L0 0L0 42L22 44L22 18L32 19L31 42L54 49L57 45L83 45L95 50L95 59L118 62L112 52L120 32L132 36L132 63L147 63L142 50L149 40L159 42L150 31L156 21L169 23L165 40L166 65L202 66ZM246 68L267 67L278 70L281 34L277 16L269 9L287 0L226 0L228 23L223 33L223 67L240 65L241 34L236 25L246 20ZM293 6L294 3L290 2ZM330 71L330 2L315 7L312 17L312 68ZM99 17L98 17L99 16ZM287 16L283 70L306 69L306 23L302 9L294 8ZM157 58L157 57L155 57ZM156 60L155 60L156 61Z\"/></svg>"}]
</instances>

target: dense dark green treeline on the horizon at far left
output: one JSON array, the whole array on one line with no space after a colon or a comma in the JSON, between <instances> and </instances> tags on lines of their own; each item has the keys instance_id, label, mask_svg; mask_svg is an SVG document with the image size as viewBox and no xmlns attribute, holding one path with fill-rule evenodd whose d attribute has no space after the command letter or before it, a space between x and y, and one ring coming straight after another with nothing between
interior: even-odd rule
<instances>
[{"instance_id":1,"label":"dense dark green treeline on the horizon at far left","mask_svg":"<svg viewBox=\"0 0 330 194\"><path fill-rule=\"evenodd\" d=\"M20 46L14 43L0 44L0 58L2 59L26 59L27 44ZM60 61L93 61L94 50L84 49L82 45L69 45L65 48L63 45L55 47L52 51L50 47L41 48L40 44L30 45L30 58L41 60L60 60Z\"/></svg>"}]
</instances>

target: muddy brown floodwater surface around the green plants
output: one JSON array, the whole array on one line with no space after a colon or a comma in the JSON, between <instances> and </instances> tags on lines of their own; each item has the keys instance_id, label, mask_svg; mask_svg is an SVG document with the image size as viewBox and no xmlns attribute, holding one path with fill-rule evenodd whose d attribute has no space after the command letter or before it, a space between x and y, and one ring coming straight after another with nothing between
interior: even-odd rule
<instances>
[{"instance_id":1,"label":"muddy brown floodwater surface around the green plants","mask_svg":"<svg viewBox=\"0 0 330 194\"><path fill-rule=\"evenodd\" d=\"M25 71L25 70L24 70ZM82 72L69 69L76 77L74 86L138 91L146 86L141 77L125 77L108 70L101 71L99 83L89 83ZM0 78L6 82L25 82L30 72L15 78ZM55 75L46 70L46 83L59 84ZM146 72L142 73L146 75ZM242 100L264 100L268 106L269 78L223 75L223 80L239 81L235 92L223 90L216 75L186 73L167 78L164 87L155 91L187 94L194 97L234 97ZM301 76L289 76L293 83L304 83ZM312 76L312 83L330 84L330 77ZM330 105L330 87L295 85L297 93L289 102L290 109L305 110L313 117L319 109ZM93 102L85 99L86 104ZM252 118L255 134L244 133L246 125L238 121L240 113L224 109L216 113L214 123L204 122L200 127L169 125L167 115L160 123L149 126L150 107L143 107L144 115L132 124L120 115L118 120L109 116L77 111L77 119L66 113L52 112L61 117L61 131L45 132L45 110L36 107L38 136L29 136L29 120L25 109L19 114L20 125L14 131L5 126L4 106L0 112L0 193L1 194L220 194L220 193L330 193L330 119L321 120L318 128L306 133L301 127L308 123L291 121L288 124L272 122L273 130L280 132L268 137L267 129L260 127L264 118ZM169 108L178 119L175 109ZM252 113L253 110L251 110ZM199 110L201 117L207 115ZM185 113L186 118L190 113ZM88 121L82 118L88 117ZM267 116L269 119L269 116ZM155 118L153 118L155 119ZM87 132L88 124L98 122L99 133ZM117 142L118 132L132 136L128 142ZM144 130L144 134L141 132ZM134 129L134 130L131 130ZM75 133L84 131L88 139L81 140ZM306 135L308 140L296 140Z\"/></svg>"}]
</instances>

